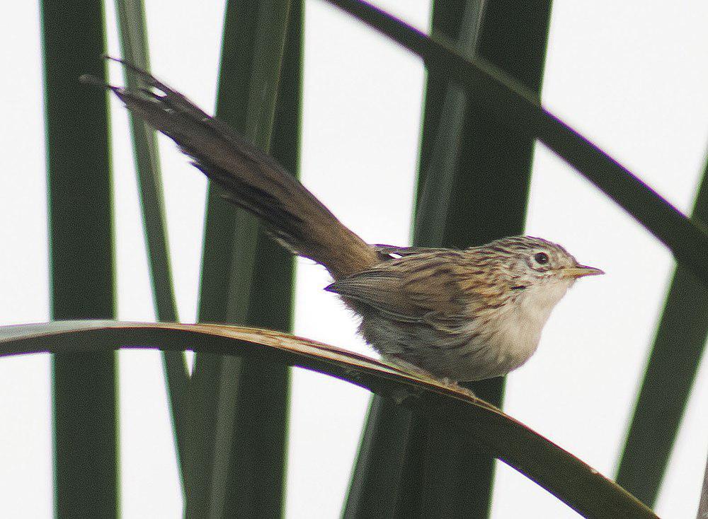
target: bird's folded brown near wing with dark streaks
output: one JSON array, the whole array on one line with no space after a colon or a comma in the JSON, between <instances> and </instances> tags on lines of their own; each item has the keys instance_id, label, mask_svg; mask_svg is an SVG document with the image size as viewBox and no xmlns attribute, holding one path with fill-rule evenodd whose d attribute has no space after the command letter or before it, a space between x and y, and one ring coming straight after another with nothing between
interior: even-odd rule
<instances>
[{"instance_id":1,"label":"bird's folded brown near wing with dark streaks","mask_svg":"<svg viewBox=\"0 0 708 519\"><path fill-rule=\"evenodd\" d=\"M404 255L336 281L326 290L401 322L455 321L466 308L459 285L461 257L453 250Z\"/></svg>"}]
</instances>

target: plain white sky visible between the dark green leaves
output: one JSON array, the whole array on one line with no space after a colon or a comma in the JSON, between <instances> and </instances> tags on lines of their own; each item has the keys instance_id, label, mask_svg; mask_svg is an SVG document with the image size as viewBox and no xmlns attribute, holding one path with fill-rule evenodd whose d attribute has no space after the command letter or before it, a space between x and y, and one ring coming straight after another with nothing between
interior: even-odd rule
<instances>
[{"instance_id":1,"label":"plain white sky visible between the dark green leaves","mask_svg":"<svg viewBox=\"0 0 708 519\"><path fill-rule=\"evenodd\" d=\"M149 0L152 68L202 107L214 106L223 2ZM428 1L386 8L426 28ZM42 153L38 5L0 18L0 324L45 321L47 223ZM113 3L108 44L118 54ZM708 5L554 2L543 100L683 211L708 143ZM321 0L306 13L302 178L365 240L409 243L423 69L418 59ZM122 82L118 69L114 81ZM125 110L113 103L118 312L154 318ZM166 139L162 166L176 291L195 319L205 180ZM346 179L346 188L343 186ZM554 311L539 351L508 378L506 410L610 477L644 370L673 260L629 216L542 146L527 233L565 245L607 276L581 280ZM22 260L18 261L18 257ZM355 323L324 270L299 261L295 332L358 351ZM683 421L657 512L695 515L708 449L705 362ZM367 392L296 371L287 516L336 517L358 447ZM164 383L154 352L120 354L122 511L180 513ZM0 360L0 516L50 517L52 472L47 356ZM44 489L44 491L40 491ZM577 514L499 464L493 517Z\"/></svg>"}]
</instances>

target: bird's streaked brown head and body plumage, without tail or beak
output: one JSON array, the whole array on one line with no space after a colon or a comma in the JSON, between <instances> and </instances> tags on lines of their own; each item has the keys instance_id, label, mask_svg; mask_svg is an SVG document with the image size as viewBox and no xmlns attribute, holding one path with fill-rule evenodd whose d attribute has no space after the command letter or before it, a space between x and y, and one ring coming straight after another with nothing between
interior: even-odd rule
<instances>
[{"instance_id":1,"label":"bird's streaked brown head and body plumage, without tail or beak","mask_svg":"<svg viewBox=\"0 0 708 519\"><path fill-rule=\"evenodd\" d=\"M382 354L452 380L505 375L525 363L575 280L557 272L578 266L560 245L527 236L467 250L377 250L400 257L326 289L357 305L361 334ZM539 253L546 264L535 262Z\"/></svg>"}]
</instances>

